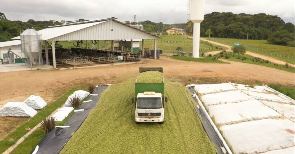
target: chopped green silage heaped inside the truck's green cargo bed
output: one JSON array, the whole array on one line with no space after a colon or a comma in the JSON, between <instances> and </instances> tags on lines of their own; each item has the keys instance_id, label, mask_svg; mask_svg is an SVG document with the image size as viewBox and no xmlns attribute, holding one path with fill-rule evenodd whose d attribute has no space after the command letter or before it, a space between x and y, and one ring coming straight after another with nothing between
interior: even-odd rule
<instances>
[{"instance_id":1,"label":"chopped green silage heaped inside the truck's green cargo bed","mask_svg":"<svg viewBox=\"0 0 295 154\"><path fill-rule=\"evenodd\" d=\"M147 71L139 73L137 83L162 83L163 73L159 71Z\"/></svg>"}]
</instances>

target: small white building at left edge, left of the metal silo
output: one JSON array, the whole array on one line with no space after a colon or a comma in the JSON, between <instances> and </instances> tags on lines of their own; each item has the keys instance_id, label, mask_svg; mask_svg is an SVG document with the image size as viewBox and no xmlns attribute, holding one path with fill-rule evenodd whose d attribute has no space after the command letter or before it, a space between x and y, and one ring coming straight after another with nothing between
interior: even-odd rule
<instances>
[{"instance_id":1,"label":"small white building at left edge, left of the metal silo","mask_svg":"<svg viewBox=\"0 0 295 154\"><path fill-rule=\"evenodd\" d=\"M8 55L9 49L11 49L13 53L9 53ZM20 40L0 42L0 64L22 63L22 56L24 56L24 54L21 50Z\"/></svg>"}]
</instances>

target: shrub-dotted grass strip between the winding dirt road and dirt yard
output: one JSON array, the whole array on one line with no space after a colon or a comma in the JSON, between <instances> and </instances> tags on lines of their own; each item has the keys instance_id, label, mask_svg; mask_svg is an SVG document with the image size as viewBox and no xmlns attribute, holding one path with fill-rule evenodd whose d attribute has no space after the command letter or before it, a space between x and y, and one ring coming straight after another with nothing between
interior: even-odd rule
<instances>
[{"instance_id":1,"label":"shrub-dotted grass strip between the winding dirt road and dirt yard","mask_svg":"<svg viewBox=\"0 0 295 154\"><path fill-rule=\"evenodd\" d=\"M287 68L285 65L278 65L278 66L276 66L276 65L273 65L273 63L271 63L271 62L269 62L269 63L253 62L253 59L255 57L250 56L250 55L247 55L247 54L240 55L240 58L245 57L245 58L247 58L246 60L237 59L237 54L235 55L235 57L233 57L233 53L232 52L226 52L226 53L224 53L224 56L225 56L225 54L229 55L230 58L229 59L225 59L224 57L222 57L221 59L230 60L230 61L237 61L237 62L241 62L241 63L249 63L249 64L262 65L262 66L266 66L266 67L272 67L272 68L276 68L276 69L279 69L279 70L284 70L284 71L295 73L295 68L294 67L291 67L291 66L289 66ZM216 54L216 55L219 56L219 53Z\"/></svg>"}]
</instances>

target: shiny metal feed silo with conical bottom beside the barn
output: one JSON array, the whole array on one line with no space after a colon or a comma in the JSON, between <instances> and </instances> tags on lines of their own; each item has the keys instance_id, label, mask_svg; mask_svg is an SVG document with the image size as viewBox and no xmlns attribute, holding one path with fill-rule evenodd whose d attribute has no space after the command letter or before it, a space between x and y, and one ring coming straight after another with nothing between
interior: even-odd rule
<instances>
[{"instance_id":1,"label":"shiny metal feed silo with conical bottom beside the barn","mask_svg":"<svg viewBox=\"0 0 295 154\"><path fill-rule=\"evenodd\" d=\"M29 67L42 66L42 35L34 28L26 29L20 35L22 52L27 58L27 65Z\"/></svg>"}]
</instances>

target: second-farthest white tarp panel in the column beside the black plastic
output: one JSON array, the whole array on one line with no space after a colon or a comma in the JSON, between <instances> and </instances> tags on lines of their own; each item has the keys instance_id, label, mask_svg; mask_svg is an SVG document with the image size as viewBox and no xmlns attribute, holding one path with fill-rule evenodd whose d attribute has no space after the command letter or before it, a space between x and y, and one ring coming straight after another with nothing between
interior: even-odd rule
<instances>
[{"instance_id":1,"label":"second-farthest white tarp panel in the column beside the black plastic","mask_svg":"<svg viewBox=\"0 0 295 154\"><path fill-rule=\"evenodd\" d=\"M219 92L213 94L205 94L201 96L201 100L207 105L214 105L214 104L226 104L232 102L241 102L246 100L255 100L253 97L248 96L247 94L235 90L235 91L226 91L226 92Z\"/></svg>"}]
</instances>

